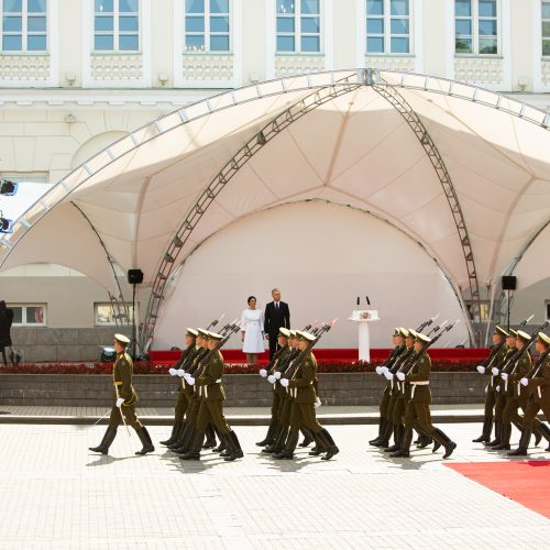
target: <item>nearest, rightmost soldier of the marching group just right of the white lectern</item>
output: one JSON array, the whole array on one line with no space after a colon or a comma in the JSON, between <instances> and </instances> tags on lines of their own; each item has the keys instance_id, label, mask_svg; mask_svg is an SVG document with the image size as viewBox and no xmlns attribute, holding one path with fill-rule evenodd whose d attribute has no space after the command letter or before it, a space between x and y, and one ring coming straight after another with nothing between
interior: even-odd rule
<instances>
[{"instance_id":1,"label":"nearest, rightmost soldier of the marching group just right of the white lectern","mask_svg":"<svg viewBox=\"0 0 550 550\"><path fill-rule=\"evenodd\" d=\"M429 342L430 339L427 336L417 333L415 339L415 351L419 352L422 345ZM392 453L391 457L393 458L410 457L413 428L416 428L420 432L428 433L436 440L435 451L443 446L446 450L443 459L448 459L457 448L457 443L451 441L446 433L439 428L435 428L431 424L430 373L431 359L428 353L425 352L415 361L415 364L406 375L403 372L396 374L399 381L410 384L410 398L405 411L405 433L403 436L402 449Z\"/></svg>"}]
</instances>

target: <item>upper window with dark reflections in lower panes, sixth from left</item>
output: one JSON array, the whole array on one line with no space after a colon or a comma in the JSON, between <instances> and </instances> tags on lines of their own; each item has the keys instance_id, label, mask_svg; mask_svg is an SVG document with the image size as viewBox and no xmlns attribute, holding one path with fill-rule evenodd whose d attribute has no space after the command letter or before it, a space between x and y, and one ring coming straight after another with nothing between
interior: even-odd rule
<instances>
[{"instance_id":1,"label":"upper window with dark reflections in lower panes, sixth from left","mask_svg":"<svg viewBox=\"0 0 550 550\"><path fill-rule=\"evenodd\" d=\"M498 54L497 0L455 0L454 33L458 54Z\"/></svg>"}]
</instances>

